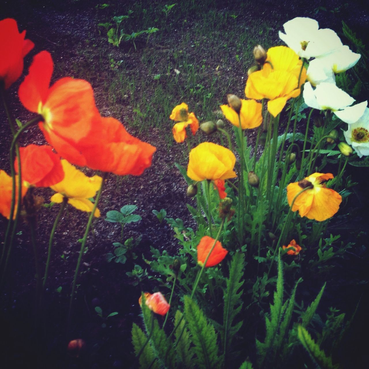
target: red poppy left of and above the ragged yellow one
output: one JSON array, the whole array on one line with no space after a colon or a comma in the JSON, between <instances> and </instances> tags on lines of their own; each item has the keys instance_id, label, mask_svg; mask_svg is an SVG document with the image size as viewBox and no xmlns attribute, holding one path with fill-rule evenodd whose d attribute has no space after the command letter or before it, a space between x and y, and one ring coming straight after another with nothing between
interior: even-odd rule
<instances>
[{"instance_id":1,"label":"red poppy left of and above the ragged yellow one","mask_svg":"<svg viewBox=\"0 0 369 369\"><path fill-rule=\"evenodd\" d=\"M52 151L48 145L28 145L19 148L22 166L22 179L34 187L49 187L61 182L64 171L60 155ZM15 172L18 173L18 160L14 161Z\"/></svg>"}]
</instances>

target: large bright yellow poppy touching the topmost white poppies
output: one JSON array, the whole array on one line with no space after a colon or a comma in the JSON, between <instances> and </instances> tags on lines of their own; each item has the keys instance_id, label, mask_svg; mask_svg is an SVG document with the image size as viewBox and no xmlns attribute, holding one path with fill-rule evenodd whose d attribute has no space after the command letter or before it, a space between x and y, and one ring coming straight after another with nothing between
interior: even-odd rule
<instances>
[{"instance_id":1,"label":"large bright yellow poppy touching the topmost white poppies","mask_svg":"<svg viewBox=\"0 0 369 369\"><path fill-rule=\"evenodd\" d=\"M276 46L270 48L267 55L263 69L249 75L245 94L249 99L268 99L268 111L276 117L288 99L299 96L306 69L302 69L298 83L302 61L292 49Z\"/></svg>"}]
</instances>

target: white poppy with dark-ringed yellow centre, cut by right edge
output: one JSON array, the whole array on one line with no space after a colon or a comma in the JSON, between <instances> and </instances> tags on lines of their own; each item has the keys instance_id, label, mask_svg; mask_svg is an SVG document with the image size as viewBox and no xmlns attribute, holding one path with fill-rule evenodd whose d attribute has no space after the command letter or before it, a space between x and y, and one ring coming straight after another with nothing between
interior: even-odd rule
<instances>
[{"instance_id":1,"label":"white poppy with dark-ringed yellow centre, cut by right edge","mask_svg":"<svg viewBox=\"0 0 369 369\"><path fill-rule=\"evenodd\" d=\"M344 131L346 141L356 151L359 158L369 155L369 108L355 123L348 125Z\"/></svg>"}]
</instances>

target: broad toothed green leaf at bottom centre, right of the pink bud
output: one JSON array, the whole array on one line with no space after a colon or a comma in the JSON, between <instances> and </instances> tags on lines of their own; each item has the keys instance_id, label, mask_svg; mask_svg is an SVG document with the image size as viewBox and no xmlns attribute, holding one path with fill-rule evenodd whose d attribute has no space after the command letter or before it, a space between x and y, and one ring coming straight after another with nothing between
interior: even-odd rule
<instances>
[{"instance_id":1,"label":"broad toothed green leaf at bottom centre, right of the pink bud","mask_svg":"<svg viewBox=\"0 0 369 369\"><path fill-rule=\"evenodd\" d=\"M200 369L221 367L222 359L218 356L217 334L213 325L207 322L204 313L189 297L184 296L184 319L188 323L196 359Z\"/></svg>"}]
</instances>

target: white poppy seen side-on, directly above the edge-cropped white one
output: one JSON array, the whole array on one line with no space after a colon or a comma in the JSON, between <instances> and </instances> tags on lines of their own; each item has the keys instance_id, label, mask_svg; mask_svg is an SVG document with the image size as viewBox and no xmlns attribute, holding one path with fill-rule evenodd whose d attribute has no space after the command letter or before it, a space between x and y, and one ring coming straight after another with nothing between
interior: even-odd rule
<instances>
[{"instance_id":1,"label":"white poppy seen side-on, directly above the edge-cropped white one","mask_svg":"<svg viewBox=\"0 0 369 369\"><path fill-rule=\"evenodd\" d=\"M313 90L311 83L306 82L303 97L307 106L319 110L332 110L339 119L349 124L356 122L368 106L368 101L350 106L355 99L333 83L320 83Z\"/></svg>"}]
</instances>

